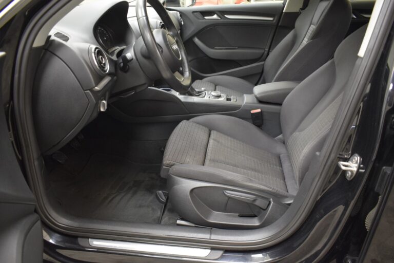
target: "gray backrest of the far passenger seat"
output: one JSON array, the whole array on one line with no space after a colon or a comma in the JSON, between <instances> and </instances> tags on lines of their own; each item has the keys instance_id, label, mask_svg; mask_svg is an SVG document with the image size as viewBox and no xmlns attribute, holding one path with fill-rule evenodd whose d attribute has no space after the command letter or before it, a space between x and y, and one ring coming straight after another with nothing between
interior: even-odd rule
<instances>
[{"instance_id":1,"label":"gray backrest of the far passenger seat","mask_svg":"<svg viewBox=\"0 0 394 263\"><path fill-rule=\"evenodd\" d=\"M264 63L265 83L302 81L331 57L351 20L349 0L310 0Z\"/></svg>"}]
</instances>

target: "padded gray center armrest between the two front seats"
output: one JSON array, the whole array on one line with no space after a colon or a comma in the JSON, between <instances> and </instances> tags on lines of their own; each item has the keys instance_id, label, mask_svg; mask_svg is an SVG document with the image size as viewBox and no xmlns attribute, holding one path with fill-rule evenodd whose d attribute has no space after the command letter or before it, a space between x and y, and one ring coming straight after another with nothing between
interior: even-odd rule
<instances>
[{"instance_id":1,"label":"padded gray center armrest between the two front seats","mask_svg":"<svg viewBox=\"0 0 394 263\"><path fill-rule=\"evenodd\" d=\"M282 104L287 95L300 82L297 81L280 81L261 84L253 88L254 96L261 102Z\"/></svg>"}]
</instances>

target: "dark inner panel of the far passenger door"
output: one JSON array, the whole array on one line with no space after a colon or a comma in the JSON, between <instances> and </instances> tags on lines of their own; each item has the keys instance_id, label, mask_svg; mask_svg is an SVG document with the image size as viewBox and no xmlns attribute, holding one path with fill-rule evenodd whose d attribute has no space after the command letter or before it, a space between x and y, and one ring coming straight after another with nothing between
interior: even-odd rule
<instances>
[{"instance_id":1,"label":"dark inner panel of the far passenger door","mask_svg":"<svg viewBox=\"0 0 394 263\"><path fill-rule=\"evenodd\" d=\"M258 81L283 3L172 9L179 11L184 21L182 38L193 80L228 75Z\"/></svg>"}]
</instances>

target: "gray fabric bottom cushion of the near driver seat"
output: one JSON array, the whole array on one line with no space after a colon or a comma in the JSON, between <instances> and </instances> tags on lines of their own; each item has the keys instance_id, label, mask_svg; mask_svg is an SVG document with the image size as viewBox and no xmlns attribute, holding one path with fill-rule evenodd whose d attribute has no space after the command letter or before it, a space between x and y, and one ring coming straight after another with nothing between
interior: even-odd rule
<instances>
[{"instance_id":1,"label":"gray fabric bottom cushion of the near driver seat","mask_svg":"<svg viewBox=\"0 0 394 263\"><path fill-rule=\"evenodd\" d=\"M178 164L194 167L193 171L184 167L181 177L284 197L298 191L284 144L234 117L208 115L182 121L169 138L163 158L164 167L173 166L171 172L182 169L176 168Z\"/></svg>"}]
</instances>

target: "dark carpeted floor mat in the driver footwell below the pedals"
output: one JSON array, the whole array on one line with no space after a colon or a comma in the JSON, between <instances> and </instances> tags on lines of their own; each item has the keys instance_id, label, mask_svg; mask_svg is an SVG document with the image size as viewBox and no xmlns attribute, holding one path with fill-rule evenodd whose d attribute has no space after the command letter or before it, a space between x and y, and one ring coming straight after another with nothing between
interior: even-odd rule
<instances>
[{"instance_id":1,"label":"dark carpeted floor mat in the driver footwell below the pedals","mask_svg":"<svg viewBox=\"0 0 394 263\"><path fill-rule=\"evenodd\" d=\"M155 193L165 189L165 180L156 170L121 157L94 154L80 172L54 168L49 174L50 191L74 216L159 223L163 204Z\"/></svg>"}]
</instances>

